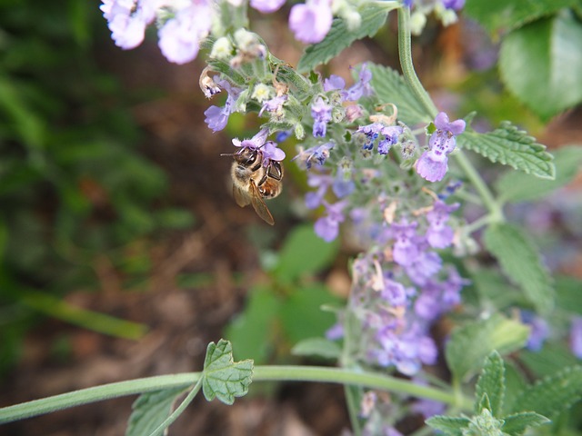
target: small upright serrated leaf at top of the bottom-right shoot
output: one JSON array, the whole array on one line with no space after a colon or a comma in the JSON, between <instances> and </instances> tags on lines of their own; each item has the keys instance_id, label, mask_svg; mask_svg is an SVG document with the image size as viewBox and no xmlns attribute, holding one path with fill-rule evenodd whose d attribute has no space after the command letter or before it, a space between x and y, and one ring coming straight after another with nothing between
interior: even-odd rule
<instances>
[{"instance_id":1,"label":"small upright serrated leaf at top of the bottom-right shoot","mask_svg":"<svg viewBox=\"0 0 582 436\"><path fill-rule=\"evenodd\" d=\"M487 395L490 411L493 416L499 416L506 394L505 365L499 353L492 352L485 360L483 372L477 381L475 398L478 400ZM479 413L480 411L475 411Z\"/></svg>"}]
</instances>

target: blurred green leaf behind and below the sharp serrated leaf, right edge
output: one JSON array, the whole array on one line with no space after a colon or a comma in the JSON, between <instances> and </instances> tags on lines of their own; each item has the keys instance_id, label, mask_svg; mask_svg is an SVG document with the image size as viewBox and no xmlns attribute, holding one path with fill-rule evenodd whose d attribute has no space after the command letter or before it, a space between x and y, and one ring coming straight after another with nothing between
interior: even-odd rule
<instances>
[{"instance_id":1,"label":"blurred green leaf behind and below the sharp serrated leaf, right edge","mask_svg":"<svg viewBox=\"0 0 582 436\"><path fill-rule=\"evenodd\" d=\"M495 183L500 200L510 203L531 202L569 183L582 164L582 146L571 145L558 149L554 152L554 164L556 165L554 180L533 178L516 171L506 173Z\"/></svg>"}]
</instances>

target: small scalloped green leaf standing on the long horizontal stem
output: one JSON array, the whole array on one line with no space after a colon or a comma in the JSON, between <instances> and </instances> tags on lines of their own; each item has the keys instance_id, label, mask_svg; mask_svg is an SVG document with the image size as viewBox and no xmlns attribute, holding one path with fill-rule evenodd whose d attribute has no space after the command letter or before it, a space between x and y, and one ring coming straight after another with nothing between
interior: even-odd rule
<instances>
[{"instance_id":1,"label":"small scalloped green leaf standing on the long horizontal stem","mask_svg":"<svg viewBox=\"0 0 582 436\"><path fill-rule=\"evenodd\" d=\"M224 339L217 344L208 344L202 374L202 391L207 401L216 397L230 405L235 402L235 397L242 397L248 392L253 377L253 361L234 362L232 351L232 345Z\"/></svg>"}]
</instances>

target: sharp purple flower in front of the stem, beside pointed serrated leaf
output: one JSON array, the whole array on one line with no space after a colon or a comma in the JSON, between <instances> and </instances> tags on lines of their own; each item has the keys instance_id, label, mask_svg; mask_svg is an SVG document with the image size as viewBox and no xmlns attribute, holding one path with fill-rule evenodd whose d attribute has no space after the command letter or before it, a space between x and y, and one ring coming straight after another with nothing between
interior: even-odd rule
<instances>
[{"instance_id":1,"label":"sharp purple flower in front of the stem, beside pointed serrated leaf","mask_svg":"<svg viewBox=\"0 0 582 436\"><path fill-rule=\"evenodd\" d=\"M447 173L447 155L455 150L455 136L465 131L465 121L449 123L447 114L441 112L435 118L435 126L437 130L428 140L428 151L416 162L416 172L429 182L438 182Z\"/></svg>"}]
</instances>

